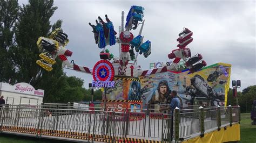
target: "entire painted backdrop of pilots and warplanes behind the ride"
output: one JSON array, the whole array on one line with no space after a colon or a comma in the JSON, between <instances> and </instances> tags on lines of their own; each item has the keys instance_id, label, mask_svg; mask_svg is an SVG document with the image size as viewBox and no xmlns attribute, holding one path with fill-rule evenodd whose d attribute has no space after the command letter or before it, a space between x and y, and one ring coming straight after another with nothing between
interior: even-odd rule
<instances>
[{"instance_id":1,"label":"entire painted backdrop of pilots and warplanes behind the ride","mask_svg":"<svg viewBox=\"0 0 256 143\"><path fill-rule=\"evenodd\" d=\"M196 73L167 71L139 77L138 81L116 80L115 87L107 89L107 100L142 100L143 104L170 104L172 90L178 92L181 105L225 105L229 88L231 66L217 63ZM105 99L105 97L103 97ZM145 106L145 105L144 105Z\"/></svg>"}]
</instances>

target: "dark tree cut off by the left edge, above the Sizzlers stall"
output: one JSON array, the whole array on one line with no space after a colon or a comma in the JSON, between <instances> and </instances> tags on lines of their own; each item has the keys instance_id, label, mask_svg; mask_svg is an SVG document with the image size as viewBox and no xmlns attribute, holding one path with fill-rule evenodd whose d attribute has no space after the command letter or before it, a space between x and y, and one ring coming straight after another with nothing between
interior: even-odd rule
<instances>
[{"instance_id":1,"label":"dark tree cut off by the left edge, above the Sizzlers stall","mask_svg":"<svg viewBox=\"0 0 256 143\"><path fill-rule=\"evenodd\" d=\"M18 2L0 0L0 80L8 82L14 78L15 67L9 58L8 49L14 46L15 23L18 19Z\"/></svg>"}]
</instances>

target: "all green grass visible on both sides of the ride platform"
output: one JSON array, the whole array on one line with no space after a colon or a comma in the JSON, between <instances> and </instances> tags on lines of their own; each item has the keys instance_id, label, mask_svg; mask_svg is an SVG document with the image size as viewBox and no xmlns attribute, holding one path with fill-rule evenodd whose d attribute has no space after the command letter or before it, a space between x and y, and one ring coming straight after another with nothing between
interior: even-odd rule
<instances>
[{"instance_id":1,"label":"all green grass visible on both sides of the ride platform","mask_svg":"<svg viewBox=\"0 0 256 143\"><path fill-rule=\"evenodd\" d=\"M256 125L252 125L250 113L241 114L240 132L241 132L241 143L256 143ZM0 143L46 143L46 142L65 142L58 140L48 139L37 139L22 137L18 135L0 134Z\"/></svg>"}]
</instances>

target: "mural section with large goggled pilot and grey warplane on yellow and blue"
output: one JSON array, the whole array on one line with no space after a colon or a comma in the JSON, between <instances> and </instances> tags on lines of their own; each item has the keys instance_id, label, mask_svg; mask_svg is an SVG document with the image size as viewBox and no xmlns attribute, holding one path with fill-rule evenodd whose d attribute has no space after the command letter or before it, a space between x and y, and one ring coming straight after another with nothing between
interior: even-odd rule
<instances>
[{"instance_id":1,"label":"mural section with large goggled pilot and grey warplane on yellow and blue","mask_svg":"<svg viewBox=\"0 0 256 143\"><path fill-rule=\"evenodd\" d=\"M176 90L183 106L224 106L225 89L229 87L230 70L230 66L215 64L193 74L189 73L189 71L179 74L169 71L141 77L142 87L149 85L146 89L148 92L144 92L142 95L143 102L169 104L170 96L168 94L171 90ZM166 89L163 89L165 87ZM168 93L166 92L167 90L169 90Z\"/></svg>"}]
</instances>

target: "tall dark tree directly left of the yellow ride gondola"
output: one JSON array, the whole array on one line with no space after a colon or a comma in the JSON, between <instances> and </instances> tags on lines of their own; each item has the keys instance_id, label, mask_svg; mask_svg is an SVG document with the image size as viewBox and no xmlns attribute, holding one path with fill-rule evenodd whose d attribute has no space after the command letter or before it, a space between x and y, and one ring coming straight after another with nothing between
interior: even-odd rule
<instances>
[{"instance_id":1,"label":"tall dark tree directly left of the yellow ride gondola","mask_svg":"<svg viewBox=\"0 0 256 143\"><path fill-rule=\"evenodd\" d=\"M50 18L56 9L57 7L53 6L53 0L30 0L29 4L23 5L20 9L21 13L15 30L17 46L10 48L17 82L27 82L37 87L42 80L45 71L35 62L39 55L36 42L38 37L46 37L49 34Z\"/></svg>"}]
</instances>

